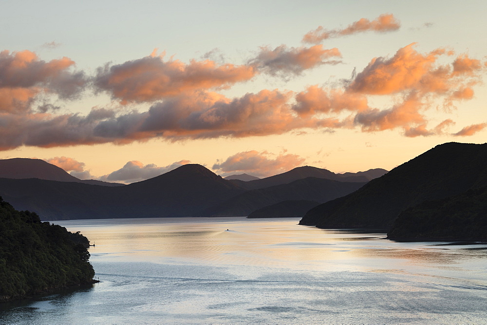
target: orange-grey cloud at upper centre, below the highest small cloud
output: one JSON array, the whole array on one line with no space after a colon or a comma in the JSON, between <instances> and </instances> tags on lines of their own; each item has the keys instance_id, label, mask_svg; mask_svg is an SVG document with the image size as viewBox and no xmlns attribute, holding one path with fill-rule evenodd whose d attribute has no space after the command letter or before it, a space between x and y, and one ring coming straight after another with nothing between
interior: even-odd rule
<instances>
[{"instance_id":1,"label":"orange-grey cloud at upper centre, below the highest small cloud","mask_svg":"<svg viewBox=\"0 0 487 325\"><path fill-rule=\"evenodd\" d=\"M329 60L332 57L341 57L337 48L323 49L322 45L309 48L299 47L288 49L285 45L278 46L274 50L263 47L261 52L249 65L256 66L259 70L271 75L286 76L300 74L306 69L311 69L322 64L337 64L340 61Z\"/></svg>"}]
</instances>

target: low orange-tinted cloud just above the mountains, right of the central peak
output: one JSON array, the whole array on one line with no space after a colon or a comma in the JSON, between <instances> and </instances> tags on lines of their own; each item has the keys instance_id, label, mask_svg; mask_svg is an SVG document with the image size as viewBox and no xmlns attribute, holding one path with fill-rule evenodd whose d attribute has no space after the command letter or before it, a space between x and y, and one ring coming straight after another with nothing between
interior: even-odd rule
<instances>
[{"instance_id":1,"label":"low orange-tinted cloud just above the mountains, right of the central peak","mask_svg":"<svg viewBox=\"0 0 487 325\"><path fill-rule=\"evenodd\" d=\"M239 152L224 162L215 163L212 169L223 177L242 173L267 177L291 170L304 162L304 158L298 155L281 153L275 158L273 156L267 151Z\"/></svg>"}]
</instances>

